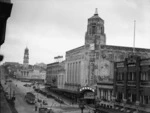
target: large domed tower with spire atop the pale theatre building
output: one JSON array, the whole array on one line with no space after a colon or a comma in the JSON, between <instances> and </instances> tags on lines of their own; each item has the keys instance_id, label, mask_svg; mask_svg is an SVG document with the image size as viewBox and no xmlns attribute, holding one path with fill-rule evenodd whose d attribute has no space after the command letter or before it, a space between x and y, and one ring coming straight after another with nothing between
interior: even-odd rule
<instances>
[{"instance_id":1,"label":"large domed tower with spire atop the pale theatre building","mask_svg":"<svg viewBox=\"0 0 150 113\"><path fill-rule=\"evenodd\" d=\"M94 44L95 47L106 44L104 20L99 17L97 8L95 14L88 19L87 32L85 34L85 46L90 47L91 44Z\"/></svg>"}]
</instances>

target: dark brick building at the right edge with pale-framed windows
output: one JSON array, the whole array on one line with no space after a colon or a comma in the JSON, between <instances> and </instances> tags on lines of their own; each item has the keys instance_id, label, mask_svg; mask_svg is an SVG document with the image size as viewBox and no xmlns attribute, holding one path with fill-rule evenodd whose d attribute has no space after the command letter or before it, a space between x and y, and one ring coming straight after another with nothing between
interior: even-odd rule
<instances>
[{"instance_id":1,"label":"dark brick building at the right edge with pale-framed windows","mask_svg":"<svg viewBox=\"0 0 150 113\"><path fill-rule=\"evenodd\" d=\"M114 75L115 105L150 113L150 58L132 55L116 62Z\"/></svg>"}]
</instances>

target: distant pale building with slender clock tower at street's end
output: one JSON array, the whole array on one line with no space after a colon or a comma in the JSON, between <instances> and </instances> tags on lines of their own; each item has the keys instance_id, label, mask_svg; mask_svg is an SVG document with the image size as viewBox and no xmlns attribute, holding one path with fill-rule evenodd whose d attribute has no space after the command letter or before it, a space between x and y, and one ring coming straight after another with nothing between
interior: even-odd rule
<instances>
[{"instance_id":1,"label":"distant pale building with slender clock tower at street's end","mask_svg":"<svg viewBox=\"0 0 150 113\"><path fill-rule=\"evenodd\" d=\"M22 81L44 82L46 69L38 65L29 65L29 49L24 50L23 65L17 69L16 78Z\"/></svg>"}]
</instances>

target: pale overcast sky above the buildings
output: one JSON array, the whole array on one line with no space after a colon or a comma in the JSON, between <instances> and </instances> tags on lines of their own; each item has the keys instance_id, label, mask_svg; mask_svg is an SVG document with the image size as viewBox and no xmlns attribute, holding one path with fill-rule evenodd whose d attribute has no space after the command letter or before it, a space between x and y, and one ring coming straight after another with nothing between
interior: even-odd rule
<instances>
[{"instance_id":1,"label":"pale overcast sky above the buildings","mask_svg":"<svg viewBox=\"0 0 150 113\"><path fill-rule=\"evenodd\" d=\"M106 44L150 49L150 0L11 0L3 62L52 63L54 57L84 45L87 19L98 8L105 22Z\"/></svg>"}]
</instances>

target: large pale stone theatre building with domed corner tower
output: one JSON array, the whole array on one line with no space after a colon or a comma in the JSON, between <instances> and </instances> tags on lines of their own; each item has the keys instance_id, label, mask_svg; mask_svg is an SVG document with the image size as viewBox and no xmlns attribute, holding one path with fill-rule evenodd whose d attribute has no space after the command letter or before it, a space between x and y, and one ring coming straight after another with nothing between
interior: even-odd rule
<instances>
[{"instance_id":1,"label":"large pale stone theatre building with domed corner tower","mask_svg":"<svg viewBox=\"0 0 150 113\"><path fill-rule=\"evenodd\" d=\"M102 84L113 82L114 62L124 60L133 52L141 58L150 57L150 49L134 48L133 51L132 47L107 45L104 20L96 10L88 19L85 44L66 52L65 88L78 91L80 87L96 85L97 97L103 99L101 95L106 95L111 101L113 84Z\"/></svg>"}]
</instances>

